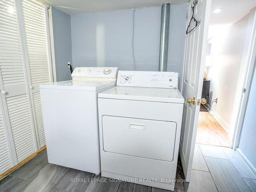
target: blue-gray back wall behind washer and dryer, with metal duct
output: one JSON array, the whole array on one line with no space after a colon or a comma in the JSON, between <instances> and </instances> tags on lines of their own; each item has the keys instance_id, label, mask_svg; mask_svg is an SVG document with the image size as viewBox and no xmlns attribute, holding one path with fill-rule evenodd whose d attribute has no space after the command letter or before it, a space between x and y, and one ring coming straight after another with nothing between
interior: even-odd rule
<instances>
[{"instance_id":1,"label":"blue-gray back wall behind washer and dryer, with metal duct","mask_svg":"<svg viewBox=\"0 0 256 192\"><path fill-rule=\"evenodd\" d=\"M182 75L187 5L170 6L168 71ZM71 16L74 67L119 67L134 70L132 55L133 10ZM134 55L136 70L157 71L161 7L135 10ZM180 87L180 86L179 86Z\"/></svg>"}]
</instances>

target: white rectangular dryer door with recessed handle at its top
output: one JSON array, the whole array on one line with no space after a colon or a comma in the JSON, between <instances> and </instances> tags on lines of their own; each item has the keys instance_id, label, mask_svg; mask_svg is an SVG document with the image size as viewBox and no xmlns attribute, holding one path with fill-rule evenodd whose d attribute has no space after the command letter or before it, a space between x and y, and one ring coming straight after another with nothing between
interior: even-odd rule
<instances>
[{"instance_id":1,"label":"white rectangular dryer door with recessed handle at its top","mask_svg":"<svg viewBox=\"0 0 256 192\"><path fill-rule=\"evenodd\" d=\"M103 150L173 161L176 122L103 116Z\"/></svg>"}]
</instances>

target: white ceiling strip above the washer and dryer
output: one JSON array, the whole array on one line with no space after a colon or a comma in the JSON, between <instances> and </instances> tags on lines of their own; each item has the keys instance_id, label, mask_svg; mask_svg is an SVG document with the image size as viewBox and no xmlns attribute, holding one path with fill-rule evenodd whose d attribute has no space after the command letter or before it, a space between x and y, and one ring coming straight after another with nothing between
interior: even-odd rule
<instances>
[{"instance_id":1,"label":"white ceiling strip above the washer and dryer","mask_svg":"<svg viewBox=\"0 0 256 192\"><path fill-rule=\"evenodd\" d=\"M59 10L70 15L112 11L122 9L136 9L142 7L160 6L165 2L171 4L184 4L189 0L38 0L39 2L53 5Z\"/></svg>"}]
</instances>

